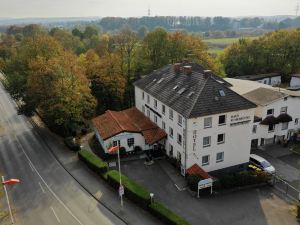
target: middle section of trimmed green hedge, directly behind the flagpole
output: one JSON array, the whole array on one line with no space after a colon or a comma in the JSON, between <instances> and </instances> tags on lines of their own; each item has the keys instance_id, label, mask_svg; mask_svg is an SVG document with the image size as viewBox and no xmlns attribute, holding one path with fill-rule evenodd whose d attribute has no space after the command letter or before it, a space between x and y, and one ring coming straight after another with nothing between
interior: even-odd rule
<instances>
[{"instance_id":1,"label":"middle section of trimmed green hedge, directly behind the flagpole","mask_svg":"<svg viewBox=\"0 0 300 225\"><path fill-rule=\"evenodd\" d=\"M133 202L139 204L143 208L147 209L150 203L150 192L135 183L130 178L122 175L122 185L124 186L124 195L132 200ZM107 172L108 183L115 189L119 188L119 172L116 170L110 170Z\"/></svg>"}]
</instances>

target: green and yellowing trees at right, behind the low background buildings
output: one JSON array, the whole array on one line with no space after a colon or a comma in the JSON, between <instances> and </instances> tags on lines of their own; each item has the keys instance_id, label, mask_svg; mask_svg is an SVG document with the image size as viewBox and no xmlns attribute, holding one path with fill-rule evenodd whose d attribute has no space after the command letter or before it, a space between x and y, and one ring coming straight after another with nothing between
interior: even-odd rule
<instances>
[{"instance_id":1,"label":"green and yellowing trees at right, behind the low background buildings","mask_svg":"<svg viewBox=\"0 0 300 225\"><path fill-rule=\"evenodd\" d=\"M229 77L278 72L289 79L300 71L300 29L277 30L256 40L240 39L221 57Z\"/></svg>"}]
</instances>

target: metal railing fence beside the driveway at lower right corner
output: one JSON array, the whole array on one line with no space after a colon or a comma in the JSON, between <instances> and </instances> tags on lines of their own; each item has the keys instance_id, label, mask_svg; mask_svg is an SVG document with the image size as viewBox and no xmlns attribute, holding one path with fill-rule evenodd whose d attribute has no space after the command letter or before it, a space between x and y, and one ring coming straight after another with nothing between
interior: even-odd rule
<instances>
[{"instance_id":1,"label":"metal railing fence beside the driveway at lower right corner","mask_svg":"<svg viewBox=\"0 0 300 225\"><path fill-rule=\"evenodd\" d=\"M289 184L289 182L282 178L280 175L274 174L272 176L271 182L277 190L281 191L287 197L295 201L300 200L300 190Z\"/></svg>"}]
</instances>

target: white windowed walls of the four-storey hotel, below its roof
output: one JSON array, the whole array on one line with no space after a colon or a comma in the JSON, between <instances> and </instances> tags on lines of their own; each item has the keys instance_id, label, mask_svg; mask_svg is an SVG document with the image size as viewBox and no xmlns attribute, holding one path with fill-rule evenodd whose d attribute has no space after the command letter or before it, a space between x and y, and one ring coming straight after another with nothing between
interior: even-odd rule
<instances>
[{"instance_id":1,"label":"white windowed walls of the four-storey hotel, below its roof","mask_svg":"<svg viewBox=\"0 0 300 225\"><path fill-rule=\"evenodd\" d=\"M138 87L135 105L165 129L167 155L179 159L184 169L197 163L210 172L249 162L254 109L186 119ZM219 125L224 115L226 122ZM204 127L205 118L211 118L206 120L211 127Z\"/></svg>"}]
</instances>

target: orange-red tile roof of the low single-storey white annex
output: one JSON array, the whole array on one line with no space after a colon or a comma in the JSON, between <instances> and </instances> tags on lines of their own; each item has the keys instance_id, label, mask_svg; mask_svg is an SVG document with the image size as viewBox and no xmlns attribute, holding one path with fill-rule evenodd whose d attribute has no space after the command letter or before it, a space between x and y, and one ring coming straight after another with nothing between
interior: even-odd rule
<instances>
[{"instance_id":1,"label":"orange-red tile roof of the low single-storey white annex","mask_svg":"<svg viewBox=\"0 0 300 225\"><path fill-rule=\"evenodd\" d=\"M154 144L167 136L135 107L119 112L108 110L92 119L92 123L104 140L122 132L131 132L142 133L147 144Z\"/></svg>"}]
</instances>

